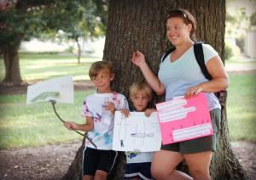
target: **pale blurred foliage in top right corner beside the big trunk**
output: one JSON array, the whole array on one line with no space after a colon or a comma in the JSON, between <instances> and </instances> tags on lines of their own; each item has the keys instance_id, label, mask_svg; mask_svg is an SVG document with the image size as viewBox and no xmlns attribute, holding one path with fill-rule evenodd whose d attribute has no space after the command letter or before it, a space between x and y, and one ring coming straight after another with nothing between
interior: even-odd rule
<instances>
[{"instance_id":1,"label":"pale blurred foliage in top right corner beside the big trunk","mask_svg":"<svg viewBox=\"0 0 256 180\"><path fill-rule=\"evenodd\" d=\"M246 38L255 30L256 2L253 0L227 0L225 29L225 59L246 53Z\"/></svg>"}]
</instances>

